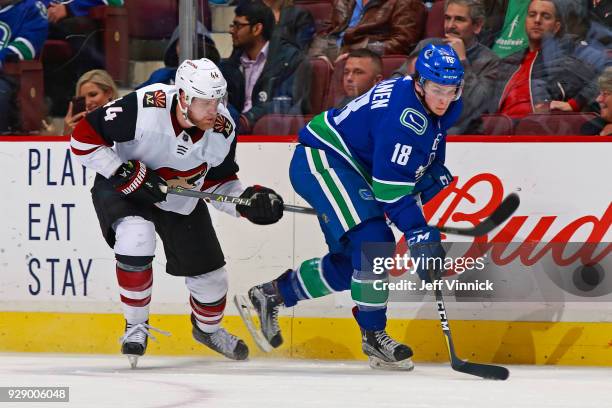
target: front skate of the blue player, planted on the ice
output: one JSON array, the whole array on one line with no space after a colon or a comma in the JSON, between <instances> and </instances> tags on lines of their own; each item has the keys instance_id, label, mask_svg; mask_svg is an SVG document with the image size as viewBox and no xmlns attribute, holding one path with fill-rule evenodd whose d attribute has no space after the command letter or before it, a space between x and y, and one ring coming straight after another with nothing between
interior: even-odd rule
<instances>
[{"instance_id":1,"label":"front skate of the blue player, planted on the ice","mask_svg":"<svg viewBox=\"0 0 612 408\"><path fill-rule=\"evenodd\" d=\"M361 329L361 349L372 368L403 371L414 368L410 347L393 340L385 330Z\"/></svg>"}]
</instances>

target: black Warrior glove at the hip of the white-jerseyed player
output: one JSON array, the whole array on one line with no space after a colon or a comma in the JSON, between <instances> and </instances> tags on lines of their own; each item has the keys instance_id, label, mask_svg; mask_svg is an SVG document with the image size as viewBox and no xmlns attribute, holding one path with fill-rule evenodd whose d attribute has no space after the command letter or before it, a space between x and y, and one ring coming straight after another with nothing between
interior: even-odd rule
<instances>
[{"instance_id":1,"label":"black Warrior glove at the hip of the white-jerseyed player","mask_svg":"<svg viewBox=\"0 0 612 408\"><path fill-rule=\"evenodd\" d=\"M167 185L166 181L147 169L141 161L130 160L123 163L109 181L120 193L141 204L154 204L166 200L166 193L159 189L161 185Z\"/></svg>"}]
</instances>

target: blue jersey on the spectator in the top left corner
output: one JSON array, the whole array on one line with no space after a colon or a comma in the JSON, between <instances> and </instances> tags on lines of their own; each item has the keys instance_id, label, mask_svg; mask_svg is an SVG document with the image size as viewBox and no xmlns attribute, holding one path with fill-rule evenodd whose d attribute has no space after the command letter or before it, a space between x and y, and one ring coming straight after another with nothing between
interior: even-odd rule
<instances>
[{"instance_id":1,"label":"blue jersey on the spectator in the top left corner","mask_svg":"<svg viewBox=\"0 0 612 408\"><path fill-rule=\"evenodd\" d=\"M0 7L0 64L11 54L20 60L36 58L48 27L47 8L40 1L23 0Z\"/></svg>"}]
</instances>

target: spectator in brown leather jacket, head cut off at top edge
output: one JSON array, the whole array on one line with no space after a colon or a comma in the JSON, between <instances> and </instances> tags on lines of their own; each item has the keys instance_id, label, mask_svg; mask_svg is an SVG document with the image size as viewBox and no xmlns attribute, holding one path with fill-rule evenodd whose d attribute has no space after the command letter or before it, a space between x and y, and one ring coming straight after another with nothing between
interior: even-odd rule
<instances>
[{"instance_id":1,"label":"spectator in brown leather jacket, head cut off at top edge","mask_svg":"<svg viewBox=\"0 0 612 408\"><path fill-rule=\"evenodd\" d=\"M315 36L309 54L330 64L357 48L407 54L421 39L426 17L421 0L334 0L331 27Z\"/></svg>"}]
</instances>

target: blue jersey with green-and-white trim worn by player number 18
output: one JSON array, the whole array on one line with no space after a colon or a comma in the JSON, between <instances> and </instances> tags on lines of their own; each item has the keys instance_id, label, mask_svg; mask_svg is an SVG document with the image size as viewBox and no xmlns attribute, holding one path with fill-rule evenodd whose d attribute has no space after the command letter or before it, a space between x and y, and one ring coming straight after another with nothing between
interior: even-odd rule
<instances>
[{"instance_id":1,"label":"blue jersey with green-and-white trim worn by player number 18","mask_svg":"<svg viewBox=\"0 0 612 408\"><path fill-rule=\"evenodd\" d=\"M425 225L415 184L434 160L444 163L446 131L461 99L441 116L427 112L411 77L383 81L343 109L323 112L300 131L300 143L345 160L402 231Z\"/></svg>"}]
</instances>

